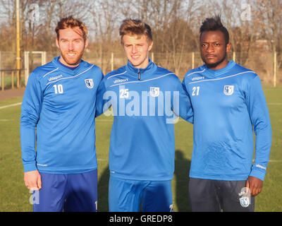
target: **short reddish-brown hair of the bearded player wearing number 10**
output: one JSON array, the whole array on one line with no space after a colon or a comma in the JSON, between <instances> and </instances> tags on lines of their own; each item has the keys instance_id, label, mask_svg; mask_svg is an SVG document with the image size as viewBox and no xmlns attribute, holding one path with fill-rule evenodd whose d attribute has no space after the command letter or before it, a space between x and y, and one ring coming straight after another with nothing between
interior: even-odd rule
<instances>
[{"instance_id":1,"label":"short reddish-brown hair of the bearded player wearing number 10","mask_svg":"<svg viewBox=\"0 0 282 226\"><path fill-rule=\"evenodd\" d=\"M75 28L78 27L82 31L82 37L84 40L87 39L87 28L84 23L82 23L80 20L73 18L73 16L68 16L66 18L62 18L57 26L56 26L56 34L57 34L57 39L59 40L59 30L63 30L66 28Z\"/></svg>"}]
</instances>

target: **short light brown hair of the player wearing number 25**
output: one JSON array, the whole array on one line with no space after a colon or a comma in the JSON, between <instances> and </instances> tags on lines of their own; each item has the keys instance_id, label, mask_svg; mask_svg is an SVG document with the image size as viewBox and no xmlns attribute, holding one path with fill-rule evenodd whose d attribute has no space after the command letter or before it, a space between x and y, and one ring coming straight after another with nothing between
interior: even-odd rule
<instances>
[{"instance_id":1,"label":"short light brown hair of the player wearing number 25","mask_svg":"<svg viewBox=\"0 0 282 226\"><path fill-rule=\"evenodd\" d=\"M119 28L119 35L121 36L121 44L123 44L124 35L146 35L149 42L153 41L152 30L147 23L141 20L125 19Z\"/></svg>"}]
</instances>

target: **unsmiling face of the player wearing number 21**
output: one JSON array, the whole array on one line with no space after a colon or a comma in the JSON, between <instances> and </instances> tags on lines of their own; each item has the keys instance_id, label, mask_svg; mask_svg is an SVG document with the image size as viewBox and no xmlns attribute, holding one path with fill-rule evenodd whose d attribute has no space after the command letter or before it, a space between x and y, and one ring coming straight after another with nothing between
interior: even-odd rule
<instances>
[{"instance_id":1,"label":"unsmiling face of the player wearing number 21","mask_svg":"<svg viewBox=\"0 0 282 226\"><path fill-rule=\"evenodd\" d=\"M227 53L231 44L226 44L220 30L205 31L200 39L201 57L209 69L223 69L227 64Z\"/></svg>"}]
</instances>

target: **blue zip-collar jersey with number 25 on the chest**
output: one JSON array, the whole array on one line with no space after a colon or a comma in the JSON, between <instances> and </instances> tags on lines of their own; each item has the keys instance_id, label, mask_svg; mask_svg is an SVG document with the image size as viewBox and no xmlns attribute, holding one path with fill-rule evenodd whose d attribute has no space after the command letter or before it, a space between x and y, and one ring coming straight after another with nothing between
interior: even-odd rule
<instances>
[{"instance_id":1,"label":"blue zip-collar jersey with number 25 on the chest","mask_svg":"<svg viewBox=\"0 0 282 226\"><path fill-rule=\"evenodd\" d=\"M176 115L192 121L189 97L178 77L149 59L108 73L99 86L97 112L114 114L109 150L111 177L161 181L173 178ZM108 112L109 114L109 112Z\"/></svg>"}]
</instances>

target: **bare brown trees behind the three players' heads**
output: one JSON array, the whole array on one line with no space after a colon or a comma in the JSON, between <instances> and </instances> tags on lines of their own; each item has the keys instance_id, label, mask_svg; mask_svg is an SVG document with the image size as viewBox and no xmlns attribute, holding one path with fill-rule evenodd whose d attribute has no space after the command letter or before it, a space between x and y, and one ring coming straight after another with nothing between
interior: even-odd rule
<instances>
[{"instance_id":1,"label":"bare brown trees behind the three players' heads","mask_svg":"<svg viewBox=\"0 0 282 226\"><path fill-rule=\"evenodd\" d=\"M14 0L0 0L1 51L16 51L15 5ZM254 52L266 51L277 52L278 68L282 62L281 0L20 0L22 51L56 52L54 28L70 15L87 25L89 49L100 57L113 49L121 52L121 21L139 18L152 27L152 52L177 72L185 54L199 50L202 21L221 15L239 64L247 64Z\"/></svg>"}]
</instances>

